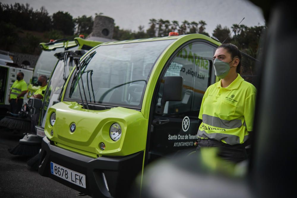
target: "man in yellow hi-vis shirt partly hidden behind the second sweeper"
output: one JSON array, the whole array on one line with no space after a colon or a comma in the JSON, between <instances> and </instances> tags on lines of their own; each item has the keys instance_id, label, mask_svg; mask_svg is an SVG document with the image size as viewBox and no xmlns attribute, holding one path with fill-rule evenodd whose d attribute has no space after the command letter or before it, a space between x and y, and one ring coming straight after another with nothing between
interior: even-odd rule
<instances>
[{"instance_id":1,"label":"man in yellow hi-vis shirt partly hidden behind the second sweeper","mask_svg":"<svg viewBox=\"0 0 297 198\"><path fill-rule=\"evenodd\" d=\"M40 85L41 87L35 91L34 95L32 96L33 98L38 98L43 100L45 90L48 85L48 78L45 75L41 75L38 77L37 84ZM32 115L31 119L31 132L33 134L36 134L35 126L38 125L38 118L39 118L39 113L36 113Z\"/></svg>"}]
</instances>

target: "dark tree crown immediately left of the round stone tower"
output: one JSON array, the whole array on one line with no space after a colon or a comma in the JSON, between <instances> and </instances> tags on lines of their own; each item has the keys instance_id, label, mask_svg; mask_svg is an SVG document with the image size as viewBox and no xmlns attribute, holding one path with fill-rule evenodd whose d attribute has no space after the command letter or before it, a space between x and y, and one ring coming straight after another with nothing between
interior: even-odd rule
<instances>
[{"instance_id":1,"label":"dark tree crown immediately left of the round stone tower","mask_svg":"<svg viewBox=\"0 0 297 198\"><path fill-rule=\"evenodd\" d=\"M92 16L87 17L86 15L83 15L75 18L74 22L76 24L75 34L91 34L94 23Z\"/></svg>"}]
</instances>

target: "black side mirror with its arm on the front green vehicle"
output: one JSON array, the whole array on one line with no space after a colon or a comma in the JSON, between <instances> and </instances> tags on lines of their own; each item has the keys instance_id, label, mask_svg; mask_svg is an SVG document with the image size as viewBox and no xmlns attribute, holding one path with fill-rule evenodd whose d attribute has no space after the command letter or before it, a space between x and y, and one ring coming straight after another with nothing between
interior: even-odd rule
<instances>
[{"instance_id":1,"label":"black side mirror with its arm on the front green vehicle","mask_svg":"<svg viewBox=\"0 0 297 198\"><path fill-rule=\"evenodd\" d=\"M161 105L156 106L155 113L163 115L164 107L167 101L181 101L183 89L183 77L166 76L164 82Z\"/></svg>"}]
</instances>

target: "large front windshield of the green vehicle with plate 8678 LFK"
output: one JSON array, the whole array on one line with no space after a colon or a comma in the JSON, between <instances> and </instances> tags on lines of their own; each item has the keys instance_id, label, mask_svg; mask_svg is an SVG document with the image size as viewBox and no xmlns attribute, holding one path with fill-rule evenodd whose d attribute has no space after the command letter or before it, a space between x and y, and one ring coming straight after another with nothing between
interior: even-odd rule
<instances>
[{"instance_id":1,"label":"large front windshield of the green vehicle with plate 8678 LFK","mask_svg":"<svg viewBox=\"0 0 297 198\"><path fill-rule=\"evenodd\" d=\"M157 58L174 39L103 45L81 61L81 72L89 103L140 108L149 74ZM65 100L80 102L82 83L74 74ZM83 96L83 100L84 96Z\"/></svg>"}]
</instances>

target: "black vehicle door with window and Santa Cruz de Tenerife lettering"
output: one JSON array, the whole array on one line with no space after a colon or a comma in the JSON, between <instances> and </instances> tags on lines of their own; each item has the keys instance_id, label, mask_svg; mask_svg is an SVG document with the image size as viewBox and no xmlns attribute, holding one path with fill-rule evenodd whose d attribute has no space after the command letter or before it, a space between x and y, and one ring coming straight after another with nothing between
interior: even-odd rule
<instances>
[{"instance_id":1,"label":"black vehicle door with window and Santa Cruz de Tenerife lettering","mask_svg":"<svg viewBox=\"0 0 297 198\"><path fill-rule=\"evenodd\" d=\"M212 64L216 49L217 46L202 40L187 42L164 66L151 105L148 162L160 156L195 149L200 105L207 87L215 78ZM183 77L182 100L166 102L164 113L159 115L155 107L160 104L166 76Z\"/></svg>"}]
</instances>

